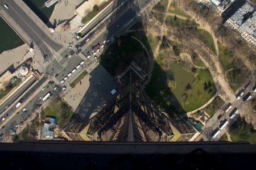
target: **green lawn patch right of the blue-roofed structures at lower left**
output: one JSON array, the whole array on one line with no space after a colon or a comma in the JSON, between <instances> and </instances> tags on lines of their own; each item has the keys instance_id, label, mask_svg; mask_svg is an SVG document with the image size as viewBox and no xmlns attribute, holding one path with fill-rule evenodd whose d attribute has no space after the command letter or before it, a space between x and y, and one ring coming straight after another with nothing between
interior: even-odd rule
<instances>
[{"instance_id":1,"label":"green lawn patch right of the blue-roofed structures at lower left","mask_svg":"<svg viewBox=\"0 0 256 170\"><path fill-rule=\"evenodd\" d=\"M44 116L55 117L60 126L69 122L73 116L73 111L61 99L53 99L52 103L44 109Z\"/></svg>"}]
</instances>

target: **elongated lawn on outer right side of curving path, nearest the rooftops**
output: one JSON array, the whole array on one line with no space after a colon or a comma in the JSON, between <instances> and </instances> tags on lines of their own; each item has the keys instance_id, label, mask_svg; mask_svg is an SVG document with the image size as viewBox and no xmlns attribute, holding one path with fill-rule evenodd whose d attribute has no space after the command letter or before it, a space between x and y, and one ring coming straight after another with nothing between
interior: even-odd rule
<instances>
[{"instance_id":1,"label":"elongated lawn on outer right side of curving path, nearest the rooftops","mask_svg":"<svg viewBox=\"0 0 256 170\"><path fill-rule=\"evenodd\" d=\"M233 59L230 56L230 52L228 49L225 48L220 42L218 42L218 58L224 70L227 71L233 67Z\"/></svg>"}]
</instances>

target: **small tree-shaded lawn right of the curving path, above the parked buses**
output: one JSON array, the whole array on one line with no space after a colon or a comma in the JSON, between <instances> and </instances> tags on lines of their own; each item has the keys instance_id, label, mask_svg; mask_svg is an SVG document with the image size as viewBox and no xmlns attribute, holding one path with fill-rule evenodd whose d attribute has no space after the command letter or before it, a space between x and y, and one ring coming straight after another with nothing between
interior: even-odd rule
<instances>
[{"instance_id":1,"label":"small tree-shaded lawn right of the curving path, above the parked buses","mask_svg":"<svg viewBox=\"0 0 256 170\"><path fill-rule=\"evenodd\" d=\"M236 92L242 83L243 75L240 73L239 69L231 70L227 75L232 90Z\"/></svg>"}]
</instances>

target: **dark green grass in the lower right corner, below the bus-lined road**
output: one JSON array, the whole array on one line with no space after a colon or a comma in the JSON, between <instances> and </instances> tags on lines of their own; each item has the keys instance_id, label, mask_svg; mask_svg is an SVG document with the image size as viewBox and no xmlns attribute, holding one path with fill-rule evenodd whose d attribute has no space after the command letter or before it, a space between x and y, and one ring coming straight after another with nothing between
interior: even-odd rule
<instances>
[{"instance_id":1,"label":"dark green grass in the lower right corner, below the bus-lined road","mask_svg":"<svg viewBox=\"0 0 256 170\"><path fill-rule=\"evenodd\" d=\"M256 131L241 117L230 127L229 134L232 142L247 141L256 144Z\"/></svg>"}]
</instances>

